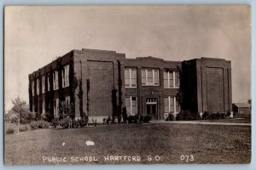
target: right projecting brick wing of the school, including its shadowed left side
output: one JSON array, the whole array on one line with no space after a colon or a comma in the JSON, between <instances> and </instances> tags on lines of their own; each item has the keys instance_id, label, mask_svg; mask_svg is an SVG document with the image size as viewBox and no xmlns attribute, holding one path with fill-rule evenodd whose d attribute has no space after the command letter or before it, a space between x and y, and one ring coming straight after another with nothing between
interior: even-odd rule
<instances>
[{"instance_id":1,"label":"right projecting brick wing of the school, including its shadowed left side","mask_svg":"<svg viewBox=\"0 0 256 170\"><path fill-rule=\"evenodd\" d=\"M183 61L183 109L232 111L231 63L225 59Z\"/></svg>"}]
</instances>

